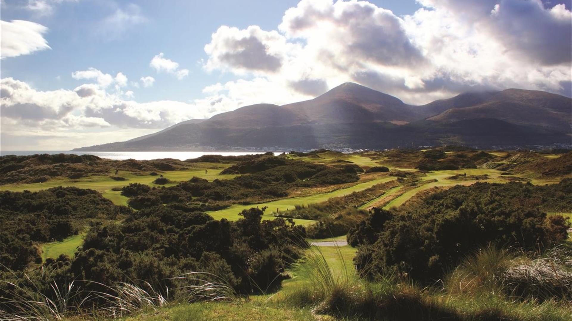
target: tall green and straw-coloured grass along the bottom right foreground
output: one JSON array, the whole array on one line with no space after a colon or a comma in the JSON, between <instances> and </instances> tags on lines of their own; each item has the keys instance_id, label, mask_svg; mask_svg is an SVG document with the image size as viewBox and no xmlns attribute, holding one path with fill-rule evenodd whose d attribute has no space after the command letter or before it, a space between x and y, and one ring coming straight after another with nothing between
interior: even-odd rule
<instances>
[{"instance_id":1,"label":"tall green and straw-coloured grass along the bottom right foreground","mask_svg":"<svg viewBox=\"0 0 572 321\"><path fill-rule=\"evenodd\" d=\"M341 251L337 252L343 262ZM551 255L554 256L545 254L536 262L550 262L547 258ZM336 272L317 248L308 254L303 264L308 282L285 289L279 300L288 306L310 307L315 314L344 320L570 321L572 303L562 296L538 300L507 292L505 283L509 275L521 275L515 267L527 260L507 249L484 248L469 256L443 282L422 287L406 276L382 272L373 280L360 279L345 265ZM553 264L567 262L553 259ZM543 266L544 271L546 264L538 265ZM564 275L563 270L557 268L556 271Z\"/></svg>"}]
</instances>

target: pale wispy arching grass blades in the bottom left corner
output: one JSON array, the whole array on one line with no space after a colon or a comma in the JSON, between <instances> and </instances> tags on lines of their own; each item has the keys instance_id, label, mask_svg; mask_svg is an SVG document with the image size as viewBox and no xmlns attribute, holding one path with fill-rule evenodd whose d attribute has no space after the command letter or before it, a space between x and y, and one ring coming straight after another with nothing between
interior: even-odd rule
<instances>
[{"instance_id":1,"label":"pale wispy arching grass blades in the bottom left corner","mask_svg":"<svg viewBox=\"0 0 572 321\"><path fill-rule=\"evenodd\" d=\"M61 320L75 315L120 318L142 309L156 309L170 302L198 300L236 300L235 290L219 276L206 272L189 272L172 278L176 288L153 288L148 282L117 282L106 285L91 280L73 280L66 284L50 283L49 291L26 274L17 282L0 280L5 288L0 296L0 321ZM21 287L18 284L31 284ZM96 284L103 290L85 290ZM173 291L176 290L176 291ZM170 292L176 292L170 296ZM9 298L8 298L9 297Z\"/></svg>"}]
</instances>

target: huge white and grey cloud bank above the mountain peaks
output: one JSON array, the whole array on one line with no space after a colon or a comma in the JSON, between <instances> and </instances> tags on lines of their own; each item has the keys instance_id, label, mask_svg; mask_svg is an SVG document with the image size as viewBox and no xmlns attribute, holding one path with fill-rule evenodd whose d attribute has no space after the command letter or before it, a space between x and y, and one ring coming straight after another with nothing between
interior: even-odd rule
<instances>
[{"instance_id":1,"label":"huge white and grey cloud bank above the mountain peaks","mask_svg":"<svg viewBox=\"0 0 572 321\"><path fill-rule=\"evenodd\" d=\"M204 67L305 95L354 81L418 104L473 90L570 91L572 13L564 5L419 2L424 8L398 17L366 1L302 0L277 30L221 26Z\"/></svg>"}]
</instances>

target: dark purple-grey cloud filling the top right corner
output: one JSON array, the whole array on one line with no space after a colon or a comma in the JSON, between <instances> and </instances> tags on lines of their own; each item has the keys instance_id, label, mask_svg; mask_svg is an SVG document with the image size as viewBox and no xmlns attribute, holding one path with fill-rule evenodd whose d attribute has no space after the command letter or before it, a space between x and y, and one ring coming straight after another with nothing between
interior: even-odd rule
<instances>
[{"instance_id":1,"label":"dark purple-grey cloud filling the top right corner","mask_svg":"<svg viewBox=\"0 0 572 321\"><path fill-rule=\"evenodd\" d=\"M506 51L542 65L572 60L572 12L561 3L541 0L423 0L443 13L465 17L466 23L501 43ZM471 10L466 10L471 7Z\"/></svg>"}]
</instances>

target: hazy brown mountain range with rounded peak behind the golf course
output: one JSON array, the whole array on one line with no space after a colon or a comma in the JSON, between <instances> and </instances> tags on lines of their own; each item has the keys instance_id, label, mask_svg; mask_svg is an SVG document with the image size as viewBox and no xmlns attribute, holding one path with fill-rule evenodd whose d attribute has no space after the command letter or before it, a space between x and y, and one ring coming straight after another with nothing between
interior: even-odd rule
<instances>
[{"instance_id":1,"label":"hazy brown mountain range with rounded peak behind the golf course","mask_svg":"<svg viewBox=\"0 0 572 321\"><path fill-rule=\"evenodd\" d=\"M571 117L572 99L543 91L463 93L412 106L391 95L344 83L309 101L245 106L126 142L76 150L572 145Z\"/></svg>"}]
</instances>

